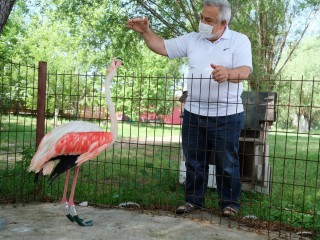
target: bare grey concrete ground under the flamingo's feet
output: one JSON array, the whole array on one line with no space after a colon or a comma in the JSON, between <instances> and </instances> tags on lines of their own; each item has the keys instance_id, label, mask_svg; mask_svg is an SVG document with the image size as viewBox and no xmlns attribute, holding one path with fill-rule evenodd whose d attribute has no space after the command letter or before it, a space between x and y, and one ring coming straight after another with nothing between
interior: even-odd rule
<instances>
[{"instance_id":1,"label":"bare grey concrete ground under the flamingo's feet","mask_svg":"<svg viewBox=\"0 0 320 240\"><path fill-rule=\"evenodd\" d=\"M0 239L301 239L290 234L252 230L226 218L203 213L177 217L165 211L101 209L77 206L93 226L70 222L59 203L0 205Z\"/></svg>"}]
</instances>

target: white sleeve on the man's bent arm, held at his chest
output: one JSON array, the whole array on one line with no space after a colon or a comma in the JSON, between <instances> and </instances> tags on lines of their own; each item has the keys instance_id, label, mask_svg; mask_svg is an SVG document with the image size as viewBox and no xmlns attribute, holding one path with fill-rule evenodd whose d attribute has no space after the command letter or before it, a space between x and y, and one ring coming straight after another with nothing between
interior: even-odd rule
<instances>
[{"instance_id":1,"label":"white sleeve on the man's bent arm, held at his chest","mask_svg":"<svg viewBox=\"0 0 320 240\"><path fill-rule=\"evenodd\" d=\"M250 71L253 71L251 43L244 34L241 34L237 39L232 65L234 68L248 66Z\"/></svg>"}]
</instances>

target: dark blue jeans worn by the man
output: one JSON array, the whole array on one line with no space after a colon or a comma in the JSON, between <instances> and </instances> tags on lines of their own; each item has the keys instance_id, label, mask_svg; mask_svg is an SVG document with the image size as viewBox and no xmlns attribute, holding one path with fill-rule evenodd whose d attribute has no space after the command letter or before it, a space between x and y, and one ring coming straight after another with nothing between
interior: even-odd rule
<instances>
[{"instance_id":1,"label":"dark blue jeans worn by the man","mask_svg":"<svg viewBox=\"0 0 320 240\"><path fill-rule=\"evenodd\" d=\"M219 206L240 209L239 138L244 114L207 117L184 110L182 148L186 157L185 201L204 207L209 160L214 154Z\"/></svg>"}]
</instances>

